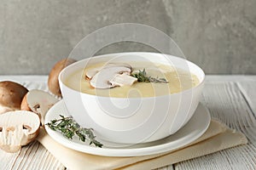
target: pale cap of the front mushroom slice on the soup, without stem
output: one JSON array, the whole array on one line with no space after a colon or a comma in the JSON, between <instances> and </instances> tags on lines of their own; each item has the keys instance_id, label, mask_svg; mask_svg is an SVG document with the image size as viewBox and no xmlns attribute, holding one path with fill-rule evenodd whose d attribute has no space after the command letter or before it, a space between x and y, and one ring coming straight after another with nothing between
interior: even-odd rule
<instances>
[{"instance_id":1,"label":"pale cap of the front mushroom slice on the soup, without stem","mask_svg":"<svg viewBox=\"0 0 256 170\"><path fill-rule=\"evenodd\" d=\"M112 84L113 80L118 74L131 74L131 69L124 66L108 67L98 71L90 80L90 86L93 88L113 88L119 86Z\"/></svg>"}]
</instances>

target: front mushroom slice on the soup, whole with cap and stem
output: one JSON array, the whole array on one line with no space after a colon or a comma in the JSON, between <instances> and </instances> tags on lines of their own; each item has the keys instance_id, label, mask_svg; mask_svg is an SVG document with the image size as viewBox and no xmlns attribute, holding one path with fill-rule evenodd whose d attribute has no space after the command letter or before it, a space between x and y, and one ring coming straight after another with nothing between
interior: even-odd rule
<instances>
[{"instance_id":1,"label":"front mushroom slice on the soup, whole with cap and stem","mask_svg":"<svg viewBox=\"0 0 256 170\"><path fill-rule=\"evenodd\" d=\"M90 80L93 88L113 88L116 86L131 85L137 78L131 77L131 69L124 66L103 68Z\"/></svg>"}]
</instances>

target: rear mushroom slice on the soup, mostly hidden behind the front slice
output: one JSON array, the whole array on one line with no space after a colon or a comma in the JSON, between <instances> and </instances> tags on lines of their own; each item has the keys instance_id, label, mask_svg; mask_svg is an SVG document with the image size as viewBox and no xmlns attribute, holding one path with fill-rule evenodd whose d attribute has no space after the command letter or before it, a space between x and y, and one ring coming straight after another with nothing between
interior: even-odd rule
<instances>
[{"instance_id":1,"label":"rear mushroom slice on the soup, mostly hidden behind the front slice","mask_svg":"<svg viewBox=\"0 0 256 170\"><path fill-rule=\"evenodd\" d=\"M128 65L126 63L108 63L107 65L103 65L100 67L96 67L94 69L90 69L89 71L86 71L85 77L90 80L92 77L94 77L96 75L97 72L101 71L102 69L109 68L109 67L126 67L126 68L129 68L130 70L132 70L131 65Z\"/></svg>"}]
</instances>

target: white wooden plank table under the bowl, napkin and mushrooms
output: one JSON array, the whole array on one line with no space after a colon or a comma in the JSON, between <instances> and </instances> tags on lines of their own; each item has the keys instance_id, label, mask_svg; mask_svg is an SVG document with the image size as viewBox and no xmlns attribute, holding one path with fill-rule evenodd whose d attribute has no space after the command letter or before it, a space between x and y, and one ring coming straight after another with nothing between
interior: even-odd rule
<instances>
[{"instance_id":1,"label":"white wooden plank table under the bowl, napkin and mushrooms","mask_svg":"<svg viewBox=\"0 0 256 170\"><path fill-rule=\"evenodd\" d=\"M0 76L27 88L45 88L46 76ZM207 76L201 103L212 117L247 136L248 144L160 169L256 169L256 76ZM20 152L0 150L0 169L65 169L44 146L33 142Z\"/></svg>"}]
</instances>

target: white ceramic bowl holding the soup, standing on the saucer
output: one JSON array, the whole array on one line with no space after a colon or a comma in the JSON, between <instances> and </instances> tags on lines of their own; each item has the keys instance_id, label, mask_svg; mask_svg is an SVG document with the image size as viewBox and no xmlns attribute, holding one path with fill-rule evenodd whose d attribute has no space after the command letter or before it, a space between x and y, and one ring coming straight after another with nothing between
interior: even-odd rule
<instances>
[{"instance_id":1,"label":"white ceramic bowl holding the soup, standing on the saucer","mask_svg":"<svg viewBox=\"0 0 256 170\"><path fill-rule=\"evenodd\" d=\"M181 93L147 98L113 98L68 88L63 82L74 71L99 62L150 61L195 74L200 83ZM84 78L84 77L81 77ZM92 127L97 138L122 144L163 139L183 127L199 103L205 74L186 59L156 53L105 54L68 65L59 76L67 111L83 127Z\"/></svg>"}]
</instances>

